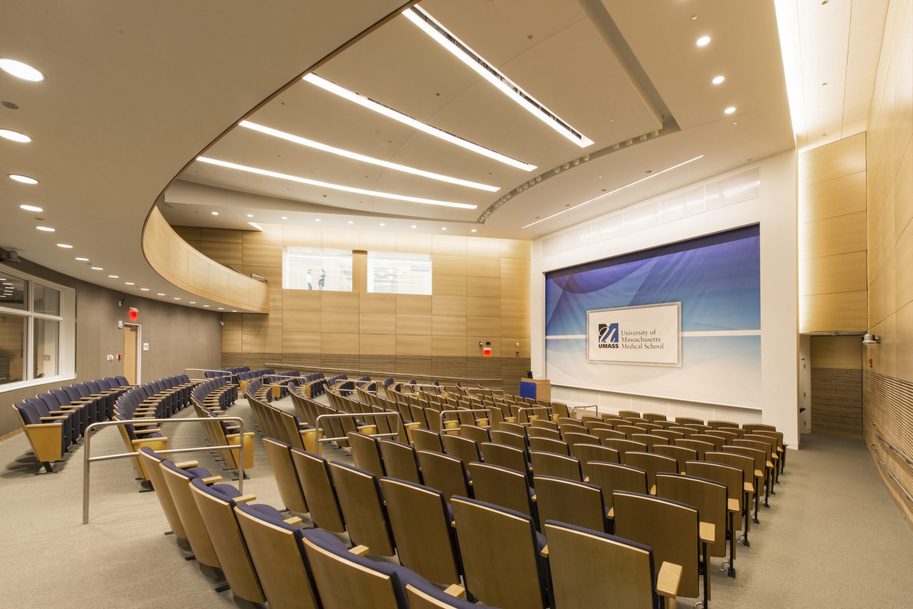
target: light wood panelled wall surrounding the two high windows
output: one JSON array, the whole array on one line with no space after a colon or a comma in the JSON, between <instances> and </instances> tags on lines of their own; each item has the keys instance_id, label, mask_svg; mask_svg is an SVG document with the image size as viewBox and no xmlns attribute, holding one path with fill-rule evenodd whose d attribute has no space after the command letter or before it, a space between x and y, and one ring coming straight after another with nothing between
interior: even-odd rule
<instances>
[{"instance_id":1,"label":"light wood panelled wall surrounding the two high windows","mask_svg":"<svg viewBox=\"0 0 913 609\"><path fill-rule=\"evenodd\" d=\"M173 228L207 257L268 278L268 315L223 316L226 365L493 378L509 392L529 370L529 241L309 226ZM372 294L357 283L352 292L282 289L283 247L431 254L432 293ZM491 343L491 357L482 357L479 341Z\"/></svg>"}]
</instances>

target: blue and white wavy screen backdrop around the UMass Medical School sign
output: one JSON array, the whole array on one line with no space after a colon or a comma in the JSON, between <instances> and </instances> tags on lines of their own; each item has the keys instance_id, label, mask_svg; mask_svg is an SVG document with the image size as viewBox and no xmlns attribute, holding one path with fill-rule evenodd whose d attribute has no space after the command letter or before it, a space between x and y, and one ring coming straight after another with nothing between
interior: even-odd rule
<instances>
[{"instance_id":1,"label":"blue and white wavy screen backdrop around the UMass Medical School sign","mask_svg":"<svg viewBox=\"0 0 913 609\"><path fill-rule=\"evenodd\" d=\"M682 364L587 362L586 312L681 302ZM600 342L618 324L599 324ZM761 236L746 226L546 274L552 383L713 404L761 402Z\"/></svg>"}]
</instances>

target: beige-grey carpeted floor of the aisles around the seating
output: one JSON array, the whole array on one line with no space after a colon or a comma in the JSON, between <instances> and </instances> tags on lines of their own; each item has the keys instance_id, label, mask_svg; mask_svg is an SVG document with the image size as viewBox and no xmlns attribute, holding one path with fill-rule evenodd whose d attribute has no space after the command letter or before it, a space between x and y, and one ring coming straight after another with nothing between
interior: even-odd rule
<instances>
[{"instance_id":1,"label":"beige-grey carpeted floor of the aisles around the seating","mask_svg":"<svg viewBox=\"0 0 913 609\"><path fill-rule=\"evenodd\" d=\"M289 400L278 403L291 411ZM231 408L253 428L246 400ZM186 409L179 416L192 415ZM173 447L203 446L195 424L165 424ZM246 493L281 508L262 444L248 472ZM219 573L186 562L189 549L168 529L154 493L141 487L129 460L92 466L91 520L81 524L84 447L71 448L59 473L38 470L25 436L0 443L0 572L8 607L150 609L252 606L231 592L215 593ZM92 454L123 452L117 430L93 436ZM325 456L352 462L348 451ZM196 459L214 475L221 464ZM782 484L752 525L750 548L739 547L738 578L719 572L714 559L711 606L902 607L913 587L913 532L888 496L861 442L803 436L791 451ZM310 520L305 519L305 524ZM582 559L585 560L585 559ZM692 607L697 599L679 599Z\"/></svg>"}]
</instances>

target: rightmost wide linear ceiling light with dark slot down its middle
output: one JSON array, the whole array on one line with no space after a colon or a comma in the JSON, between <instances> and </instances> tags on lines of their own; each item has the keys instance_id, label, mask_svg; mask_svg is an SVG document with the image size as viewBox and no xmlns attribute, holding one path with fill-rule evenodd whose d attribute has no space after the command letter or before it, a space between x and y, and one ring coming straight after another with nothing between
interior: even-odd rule
<instances>
[{"instance_id":1,"label":"rightmost wide linear ceiling light with dark slot down its middle","mask_svg":"<svg viewBox=\"0 0 913 609\"><path fill-rule=\"evenodd\" d=\"M519 103L523 109L528 110L551 129L558 131L581 148L586 148L593 144L593 140L574 129L567 122L561 121L561 118L555 115L554 112L521 89L517 83L501 73L498 68L489 64L485 58L469 48L465 42L454 36L452 32L442 26L433 16L428 15L423 9L418 6L411 6L403 11L403 15L416 26L419 26L425 34L434 38L441 47L446 48L457 59L472 68L479 76L488 80L488 82L500 89L502 93Z\"/></svg>"}]
</instances>

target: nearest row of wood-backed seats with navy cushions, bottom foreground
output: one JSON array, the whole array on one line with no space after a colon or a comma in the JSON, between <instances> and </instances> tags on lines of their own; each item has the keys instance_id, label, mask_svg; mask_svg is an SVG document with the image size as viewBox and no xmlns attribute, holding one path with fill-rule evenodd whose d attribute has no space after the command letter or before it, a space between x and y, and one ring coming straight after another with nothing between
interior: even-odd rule
<instances>
[{"instance_id":1,"label":"nearest row of wood-backed seats with navy cushions, bottom foreground","mask_svg":"<svg viewBox=\"0 0 913 609\"><path fill-rule=\"evenodd\" d=\"M370 549L347 549L325 530L302 530L285 518L220 483L199 464L174 463L149 448L141 458L173 533L189 542L194 557L221 568L236 595L270 609L430 609L477 605L457 598L458 586L441 591L425 578L391 562L364 557Z\"/></svg>"}]
</instances>

